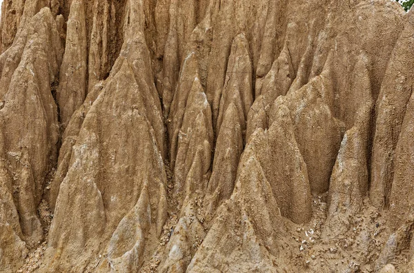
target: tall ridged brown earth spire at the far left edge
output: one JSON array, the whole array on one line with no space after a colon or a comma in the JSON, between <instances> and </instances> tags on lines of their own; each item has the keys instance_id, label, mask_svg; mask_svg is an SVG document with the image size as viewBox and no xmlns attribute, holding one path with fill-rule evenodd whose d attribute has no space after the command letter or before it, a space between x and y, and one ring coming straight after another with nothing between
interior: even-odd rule
<instances>
[{"instance_id":1,"label":"tall ridged brown earth spire at the far left edge","mask_svg":"<svg viewBox=\"0 0 414 273\"><path fill-rule=\"evenodd\" d=\"M3 66L3 72L8 73L2 74L0 82L0 127L4 132L1 160L7 162L13 179L23 238L33 245L43 239L37 205L46 175L57 158L59 128L50 85L57 81L63 52L55 19L48 8L41 10L17 39L8 49ZM26 114L33 120L23 118Z\"/></svg>"}]
</instances>

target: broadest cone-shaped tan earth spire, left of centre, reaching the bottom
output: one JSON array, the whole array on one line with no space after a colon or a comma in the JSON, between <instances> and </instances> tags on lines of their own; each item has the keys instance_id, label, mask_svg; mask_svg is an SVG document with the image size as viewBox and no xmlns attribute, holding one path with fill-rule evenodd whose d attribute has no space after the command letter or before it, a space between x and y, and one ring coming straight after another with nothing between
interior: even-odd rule
<instances>
[{"instance_id":1,"label":"broadest cone-shaped tan earth spire, left of centre, reaching the bottom","mask_svg":"<svg viewBox=\"0 0 414 273\"><path fill-rule=\"evenodd\" d=\"M100 243L105 243L108 236L118 236L117 234L125 229L124 226L128 227L132 223L134 223L133 226L138 225L136 228L138 233L148 234L149 228L148 224L145 224L146 222L140 224L139 221L133 221L134 215L141 214L143 210L147 213L147 208L150 208L152 212L149 222L152 232L157 234L157 230L160 232L162 225L164 225L166 174L155 134L146 118L146 106L141 98L141 94L144 92L139 91L144 86L140 87L139 83L135 82L128 61L122 62L121 70L106 85L106 88L103 88L83 121L77 144L73 148L74 152L71 156L68 174L60 186L55 209L56 216L50 233L50 250L54 250L56 253L55 261L59 261L59 258L77 259L79 249L83 249L85 245L88 247L84 250L83 256L78 258L88 261L90 255L97 252L96 247ZM129 96L128 105L122 106L124 100L122 92ZM106 96L117 102L107 100ZM109 113L103 114L102 111L105 111L103 109L110 109L107 108L107 103L113 105L113 108ZM108 116L108 114L110 115ZM103 117L106 118L102 119ZM114 123L118 117L124 119L124 124ZM161 117L159 118L161 119ZM122 127L127 123L130 126L126 127L128 131L117 128L101 131L101 127L97 126L101 122L106 123L103 126L105 128L114 125ZM131 125L133 126L131 127ZM135 156L135 159L124 156L128 148L122 149L121 147L125 147L125 145L138 149L131 154ZM98 163L101 156L105 156L105 161L102 161L101 164L107 166L103 169L99 168ZM152 159L152 161L139 164L140 159ZM131 160L137 162L134 168L129 168L127 165L127 162ZM119 166L119 168L114 168L114 166ZM118 187L111 181L124 181L124 187ZM146 187L148 190L145 190ZM145 193L146 191L148 193ZM80 192L82 192L81 196L79 196ZM140 199L138 199L139 195ZM70 196L79 196L75 199L77 203L72 203L75 200L72 200ZM136 202L137 205L135 205ZM71 208L70 212L66 212L69 208ZM83 213L87 213L88 216L83 218ZM148 214L145 217L148 217ZM124 220L121 221L121 219ZM89 221L92 221L93 225L90 225ZM119 223L119 221L121 222ZM84 228L79 230L79 225L83 225ZM63 227L65 228L62 230ZM81 233L78 234L78 232ZM111 235L113 232L115 232L114 235ZM83 241L82 238L88 238L88 241ZM118 259L117 253L125 250L125 248L118 250L118 243L114 242L109 243L109 262L112 259ZM111 246L112 244L115 246ZM116 250L115 254L112 254L112 251L115 251L111 250L113 247ZM137 252L136 255L139 255L139 248L133 247L133 250ZM134 257L137 259L137 256ZM123 258L121 261L117 260L116 263L121 266L119 268L139 268L139 265L129 264L128 261L128 258ZM64 270L69 265L57 263L50 266L49 268L54 270ZM79 264L79 268L83 266L85 265Z\"/></svg>"}]
</instances>

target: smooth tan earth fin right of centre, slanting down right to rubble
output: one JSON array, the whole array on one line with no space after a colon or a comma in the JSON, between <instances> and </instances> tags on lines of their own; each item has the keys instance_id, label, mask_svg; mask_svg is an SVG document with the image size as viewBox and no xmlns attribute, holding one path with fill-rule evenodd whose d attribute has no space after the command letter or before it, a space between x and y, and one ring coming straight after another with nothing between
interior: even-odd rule
<instances>
[{"instance_id":1,"label":"smooth tan earth fin right of centre, slanting down right to rubble","mask_svg":"<svg viewBox=\"0 0 414 273\"><path fill-rule=\"evenodd\" d=\"M307 165L295 140L290 111L284 105L273 111L275 121L267 133L268 143L259 149L258 157L282 216L295 223L306 223L312 216Z\"/></svg>"}]
</instances>

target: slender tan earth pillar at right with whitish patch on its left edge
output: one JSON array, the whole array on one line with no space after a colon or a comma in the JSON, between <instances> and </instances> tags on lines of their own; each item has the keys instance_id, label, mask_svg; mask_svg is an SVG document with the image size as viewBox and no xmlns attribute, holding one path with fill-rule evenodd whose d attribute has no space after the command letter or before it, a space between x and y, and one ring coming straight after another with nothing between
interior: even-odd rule
<instances>
[{"instance_id":1,"label":"slender tan earth pillar at right with whitish patch on its left edge","mask_svg":"<svg viewBox=\"0 0 414 273\"><path fill-rule=\"evenodd\" d=\"M355 112L353 128L346 131L331 175L328 192L328 219L324 235L335 237L350 228L349 219L362 208L368 192L368 155L373 99L367 60L361 57L355 66L351 94L359 93L359 99L348 106ZM355 109L357 108L357 109Z\"/></svg>"}]
</instances>

